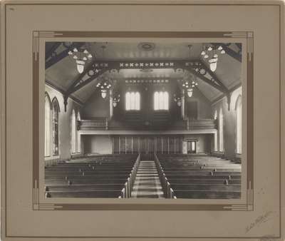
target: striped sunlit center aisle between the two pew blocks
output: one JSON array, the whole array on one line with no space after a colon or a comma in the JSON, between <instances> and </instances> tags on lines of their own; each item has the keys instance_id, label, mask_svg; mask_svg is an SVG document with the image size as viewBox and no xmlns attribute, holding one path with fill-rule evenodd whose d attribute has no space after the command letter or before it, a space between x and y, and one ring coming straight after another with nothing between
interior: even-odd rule
<instances>
[{"instance_id":1,"label":"striped sunlit center aisle between the two pew blocks","mask_svg":"<svg viewBox=\"0 0 285 241\"><path fill-rule=\"evenodd\" d=\"M154 160L140 161L131 197L164 198Z\"/></svg>"}]
</instances>

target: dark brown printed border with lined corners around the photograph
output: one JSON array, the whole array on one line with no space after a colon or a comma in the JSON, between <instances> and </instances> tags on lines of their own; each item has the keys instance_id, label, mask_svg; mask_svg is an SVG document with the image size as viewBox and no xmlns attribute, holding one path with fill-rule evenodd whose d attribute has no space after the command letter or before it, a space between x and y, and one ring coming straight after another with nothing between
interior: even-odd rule
<instances>
[{"instance_id":1,"label":"dark brown printed border with lined corners around the photograph","mask_svg":"<svg viewBox=\"0 0 285 241\"><path fill-rule=\"evenodd\" d=\"M40 203L39 190L39 41L41 38L215 38L247 39L247 201L244 204L83 204L83 203ZM33 31L33 210L254 210L254 145L253 145L253 64L254 33L238 32L99 32L99 31Z\"/></svg>"}]
</instances>

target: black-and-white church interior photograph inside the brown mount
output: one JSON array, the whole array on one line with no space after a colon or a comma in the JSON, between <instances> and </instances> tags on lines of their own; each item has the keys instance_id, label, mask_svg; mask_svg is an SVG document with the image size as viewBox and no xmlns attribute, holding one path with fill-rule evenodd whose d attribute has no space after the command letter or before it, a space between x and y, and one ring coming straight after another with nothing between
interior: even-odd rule
<instances>
[{"instance_id":1,"label":"black-and-white church interior photograph inside the brown mount","mask_svg":"<svg viewBox=\"0 0 285 241\"><path fill-rule=\"evenodd\" d=\"M45 45L46 198L241 198L242 43Z\"/></svg>"}]
</instances>

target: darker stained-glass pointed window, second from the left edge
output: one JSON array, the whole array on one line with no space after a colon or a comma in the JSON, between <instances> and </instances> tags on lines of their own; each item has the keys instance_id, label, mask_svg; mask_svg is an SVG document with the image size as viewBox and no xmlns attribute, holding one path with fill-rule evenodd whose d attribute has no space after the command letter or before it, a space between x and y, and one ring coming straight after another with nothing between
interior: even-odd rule
<instances>
[{"instance_id":1,"label":"darker stained-glass pointed window, second from the left edge","mask_svg":"<svg viewBox=\"0 0 285 241\"><path fill-rule=\"evenodd\" d=\"M58 100L53 98L52 102L53 108L53 155L59 154L59 133L58 133L58 118L59 118L59 105Z\"/></svg>"}]
</instances>

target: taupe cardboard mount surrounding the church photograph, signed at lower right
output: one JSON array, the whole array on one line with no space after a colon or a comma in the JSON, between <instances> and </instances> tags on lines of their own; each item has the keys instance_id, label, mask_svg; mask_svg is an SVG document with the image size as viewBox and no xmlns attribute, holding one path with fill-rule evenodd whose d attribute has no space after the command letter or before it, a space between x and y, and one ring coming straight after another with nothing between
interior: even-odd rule
<instances>
[{"instance_id":1,"label":"taupe cardboard mount surrounding the church photograph, signed at lower right","mask_svg":"<svg viewBox=\"0 0 285 241\"><path fill-rule=\"evenodd\" d=\"M283 1L1 2L2 240L284 240ZM242 43L241 200L44 196L47 41Z\"/></svg>"}]
</instances>

